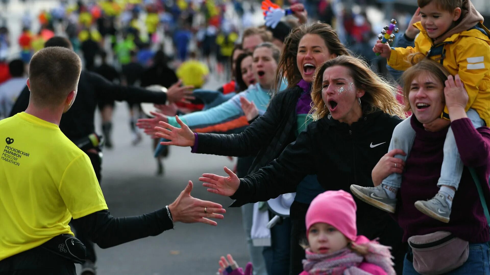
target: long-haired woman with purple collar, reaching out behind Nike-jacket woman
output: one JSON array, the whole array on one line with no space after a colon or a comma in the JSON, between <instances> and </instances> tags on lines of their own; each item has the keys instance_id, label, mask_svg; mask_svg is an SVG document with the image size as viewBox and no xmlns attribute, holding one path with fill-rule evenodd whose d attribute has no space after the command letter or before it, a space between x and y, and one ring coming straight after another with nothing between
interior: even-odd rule
<instances>
[{"instance_id":1,"label":"long-haired woman with purple collar, reaching out behind Nike-jacket woman","mask_svg":"<svg viewBox=\"0 0 490 275\"><path fill-rule=\"evenodd\" d=\"M257 172L261 167L279 157L284 148L293 142L299 132L304 129L305 124L311 121L309 119L305 122L312 103L310 92L315 69L331 58L348 54L347 49L342 45L337 33L330 25L316 22L298 26L284 41L284 49L276 74L277 83L281 83L282 79L286 78L288 89L278 92L272 97L264 115L255 119L240 134L199 133L195 137L189 130L186 132L189 135L184 138L184 142L179 143L178 140L168 137L172 141L165 144L193 146L194 153L202 154L236 157L254 155L256 158L248 173ZM183 126L178 131L188 130L188 127L187 129L185 127L187 126ZM304 217L313 198L325 191L319 186L315 175L303 178L294 190L296 197L290 209L292 224L291 268L278 267L279 264L276 263L270 275L288 274L288 269L291 275L297 275L303 271L301 260L304 259L305 254L298 243L299 236L306 236ZM234 203L232 207L243 206L246 203ZM272 228L272 235L275 234L274 230L280 230L279 226ZM272 246L274 246L274 241L272 242Z\"/></svg>"}]
</instances>

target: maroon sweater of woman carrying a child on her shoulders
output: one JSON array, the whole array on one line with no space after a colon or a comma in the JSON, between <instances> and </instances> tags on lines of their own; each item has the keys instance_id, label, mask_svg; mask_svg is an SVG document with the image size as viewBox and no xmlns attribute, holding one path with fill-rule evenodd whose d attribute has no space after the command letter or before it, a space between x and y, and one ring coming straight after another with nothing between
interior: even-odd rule
<instances>
[{"instance_id":1,"label":"maroon sweater of woman carrying a child on her shoulders","mask_svg":"<svg viewBox=\"0 0 490 275\"><path fill-rule=\"evenodd\" d=\"M403 242L414 235L424 235L436 231L449 231L470 243L488 242L489 227L480 203L476 185L468 167L474 167L483 192L490 206L490 129L474 129L468 118L451 123L456 144L465 164L459 188L454 196L451 220L448 224L437 221L418 211L414 203L434 197L439 188L437 182L441 175L442 147L447 129L440 132L427 132L412 115L412 127L416 138L412 151L406 161L395 218L403 229Z\"/></svg>"}]
</instances>

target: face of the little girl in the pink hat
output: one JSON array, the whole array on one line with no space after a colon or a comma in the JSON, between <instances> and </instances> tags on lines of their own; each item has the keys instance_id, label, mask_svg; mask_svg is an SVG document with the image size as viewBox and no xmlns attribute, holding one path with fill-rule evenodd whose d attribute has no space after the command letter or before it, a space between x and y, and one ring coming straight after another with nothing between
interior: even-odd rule
<instances>
[{"instance_id":1,"label":"face of the little girl in the pink hat","mask_svg":"<svg viewBox=\"0 0 490 275\"><path fill-rule=\"evenodd\" d=\"M316 223L308 230L308 243L311 252L326 254L345 248L349 240L333 226Z\"/></svg>"}]
</instances>

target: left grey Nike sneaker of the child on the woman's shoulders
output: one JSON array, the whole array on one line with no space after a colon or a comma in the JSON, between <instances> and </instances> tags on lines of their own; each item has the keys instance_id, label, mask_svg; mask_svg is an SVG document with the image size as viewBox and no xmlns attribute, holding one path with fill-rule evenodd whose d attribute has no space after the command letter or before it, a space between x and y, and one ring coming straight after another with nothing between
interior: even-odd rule
<instances>
[{"instance_id":1,"label":"left grey Nike sneaker of the child on the woman's shoulders","mask_svg":"<svg viewBox=\"0 0 490 275\"><path fill-rule=\"evenodd\" d=\"M396 199L390 199L381 184L376 187L350 185L350 191L361 201L390 213L395 212Z\"/></svg>"}]
</instances>

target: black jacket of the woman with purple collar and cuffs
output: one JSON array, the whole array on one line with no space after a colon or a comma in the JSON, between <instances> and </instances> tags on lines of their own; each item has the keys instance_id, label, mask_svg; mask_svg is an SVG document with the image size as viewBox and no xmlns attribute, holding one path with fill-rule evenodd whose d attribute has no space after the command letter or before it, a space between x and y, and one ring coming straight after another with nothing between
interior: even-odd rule
<instances>
[{"instance_id":1,"label":"black jacket of the woman with purple collar and cuffs","mask_svg":"<svg viewBox=\"0 0 490 275\"><path fill-rule=\"evenodd\" d=\"M279 157L296 139L296 104L302 92L298 86L279 92L270 100L266 113L240 134L197 134L197 153L235 157L256 155L248 173L258 171Z\"/></svg>"}]
</instances>

